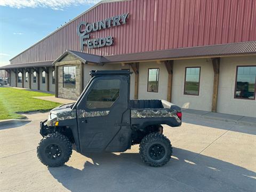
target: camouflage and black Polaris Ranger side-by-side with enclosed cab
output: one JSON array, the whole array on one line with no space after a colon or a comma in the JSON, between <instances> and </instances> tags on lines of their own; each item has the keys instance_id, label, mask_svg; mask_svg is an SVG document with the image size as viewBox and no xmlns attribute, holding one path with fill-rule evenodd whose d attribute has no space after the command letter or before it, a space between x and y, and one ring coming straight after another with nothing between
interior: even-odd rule
<instances>
[{"instance_id":1,"label":"camouflage and black Polaris Ranger side-by-side with enclosed cab","mask_svg":"<svg viewBox=\"0 0 256 192\"><path fill-rule=\"evenodd\" d=\"M161 124L180 126L181 109L164 100L130 100L130 74L129 70L91 71L79 99L52 109L41 122L40 161L61 166L73 148L81 154L111 153L140 144L143 162L166 164L172 146Z\"/></svg>"}]
</instances>

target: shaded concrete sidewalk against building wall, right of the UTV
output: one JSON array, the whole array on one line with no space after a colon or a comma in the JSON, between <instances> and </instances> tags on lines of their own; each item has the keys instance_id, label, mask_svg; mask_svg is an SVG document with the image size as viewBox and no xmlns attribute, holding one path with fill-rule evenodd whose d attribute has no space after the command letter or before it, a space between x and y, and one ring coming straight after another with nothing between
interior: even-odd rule
<instances>
[{"instance_id":1,"label":"shaded concrete sidewalk against building wall, right of the UTV","mask_svg":"<svg viewBox=\"0 0 256 192\"><path fill-rule=\"evenodd\" d=\"M195 109L182 109L182 113L185 115L190 114L190 115L195 115L197 117L216 119L216 120L225 121L225 122L245 123L245 124L256 126L256 118L255 117L213 113L213 112L209 112L209 111L195 110Z\"/></svg>"}]
</instances>

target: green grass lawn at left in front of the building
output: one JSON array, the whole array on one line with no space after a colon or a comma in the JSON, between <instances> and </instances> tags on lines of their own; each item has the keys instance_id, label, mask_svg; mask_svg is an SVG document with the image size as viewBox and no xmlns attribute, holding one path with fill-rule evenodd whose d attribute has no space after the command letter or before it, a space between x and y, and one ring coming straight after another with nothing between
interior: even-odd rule
<instances>
[{"instance_id":1,"label":"green grass lawn at left in front of the building","mask_svg":"<svg viewBox=\"0 0 256 192\"><path fill-rule=\"evenodd\" d=\"M57 102L45 101L33 97L52 96L53 94L29 90L0 87L0 120L21 119L18 112L50 110L60 105Z\"/></svg>"}]
</instances>

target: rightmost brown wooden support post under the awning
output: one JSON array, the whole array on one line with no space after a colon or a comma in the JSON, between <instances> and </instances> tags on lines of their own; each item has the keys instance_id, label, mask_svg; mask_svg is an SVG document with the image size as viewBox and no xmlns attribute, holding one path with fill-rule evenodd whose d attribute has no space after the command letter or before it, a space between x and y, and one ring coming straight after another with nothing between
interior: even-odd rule
<instances>
[{"instance_id":1,"label":"rightmost brown wooden support post under the awning","mask_svg":"<svg viewBox=\"0 0 256 192\"><path fill-rule=\"evenodd\" d=\"M212 58L211 60L212 60L212 66L213 66L213 72L214 72L213 91L212 91L212 112L217 112L220 58Z\"/></svg>"}]
</instances>

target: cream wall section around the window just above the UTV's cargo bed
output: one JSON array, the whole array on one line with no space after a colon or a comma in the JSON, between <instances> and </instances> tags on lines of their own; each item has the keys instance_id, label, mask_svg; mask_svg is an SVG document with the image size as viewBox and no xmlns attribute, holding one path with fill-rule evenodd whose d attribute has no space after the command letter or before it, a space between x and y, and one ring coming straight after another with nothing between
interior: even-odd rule
<instances>
[{"instance_id":1,"label":"cream wall section around the window just above the UTV's cargo bed","mask_svg":"<svg viewBox=\"0 0 256 192\"><path fill-rule=\"evenodd\" d=\"M148 92L148 69L159 68L158 92ZM140 62L138 99L167 99L168 73L163 63Z\"/></svg>"}]
</instances>

